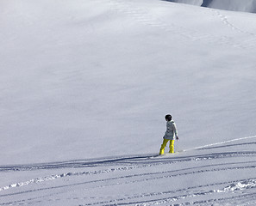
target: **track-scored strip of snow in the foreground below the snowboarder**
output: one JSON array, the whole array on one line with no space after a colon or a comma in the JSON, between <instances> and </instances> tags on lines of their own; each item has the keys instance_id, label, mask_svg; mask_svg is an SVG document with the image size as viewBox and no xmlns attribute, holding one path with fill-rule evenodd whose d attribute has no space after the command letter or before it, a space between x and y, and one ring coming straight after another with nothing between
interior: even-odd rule
<instances>
[{"instance_id":1,"label":"track-scored strip of snow in the foreground below the snowboarder","mask_svg":"<svg viewBox=\"0 0 256 206\"><path fill-rule=\"evenodd\" d=\"M255 205L255 144L0 167L0 205Z\"/></svg>"}]
</instances>

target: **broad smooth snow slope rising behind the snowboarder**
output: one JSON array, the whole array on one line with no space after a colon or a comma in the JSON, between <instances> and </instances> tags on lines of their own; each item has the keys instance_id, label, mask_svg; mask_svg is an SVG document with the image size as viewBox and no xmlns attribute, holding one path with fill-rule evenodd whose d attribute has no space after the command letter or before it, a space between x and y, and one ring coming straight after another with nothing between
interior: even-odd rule
<instances>
[{"instance_id":1,"label":"broad smooth snow slope rising behind the snowboarder","mask_svg":"<svg viewBox=\"0 0 256 206\"><path fill-rule=\"evenodd\" d=\"M169 112L183 148L255 135L255 15L156 0L1 8L1 165L151 153Z\"/></svg>"}]
</instances>

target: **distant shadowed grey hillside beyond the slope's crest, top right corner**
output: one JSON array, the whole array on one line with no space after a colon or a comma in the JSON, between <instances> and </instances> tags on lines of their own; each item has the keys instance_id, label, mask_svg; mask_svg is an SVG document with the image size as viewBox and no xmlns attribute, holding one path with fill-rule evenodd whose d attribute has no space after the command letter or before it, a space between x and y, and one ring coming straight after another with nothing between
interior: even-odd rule
<instances>
[{"instance_id":1,"label":"distant shadowed grey hillside beyond the slope's crest, top right corner","mask_svg":"<svg viewBox=\"0 0 256 206\"><path fill-rule=\"evenodd\" d=\"M189 3L192 5L214 9L226 9L256 13L255 0L168 0L175 3Z\"/></svg>"}]
</instances>

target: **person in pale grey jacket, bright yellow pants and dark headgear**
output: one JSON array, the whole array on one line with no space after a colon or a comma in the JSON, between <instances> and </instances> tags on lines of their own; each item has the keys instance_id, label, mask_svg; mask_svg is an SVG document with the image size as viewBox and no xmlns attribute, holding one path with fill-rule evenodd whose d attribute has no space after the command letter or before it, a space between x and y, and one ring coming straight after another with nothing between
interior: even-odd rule
<instances>
[{"instance_id":1,"label":"person in pale grey jacket, bright yellow pants and dark headgear","mask_svg":"<svg viewBox=\"0 0 256 206\"><path fill-rule=\"evenodd\" d=\"M165 147L169 141L170 141L169 153L174 153L174 138L176 137L176 140L178 140L178 130L177 130L176 124L172 120L172 115L167 114L165 116L165 120L166 120L166 131L165 131L165 136L163 137L164 140L161 145L159 154L165 153Z\"/></svg>"}]
</instances>

